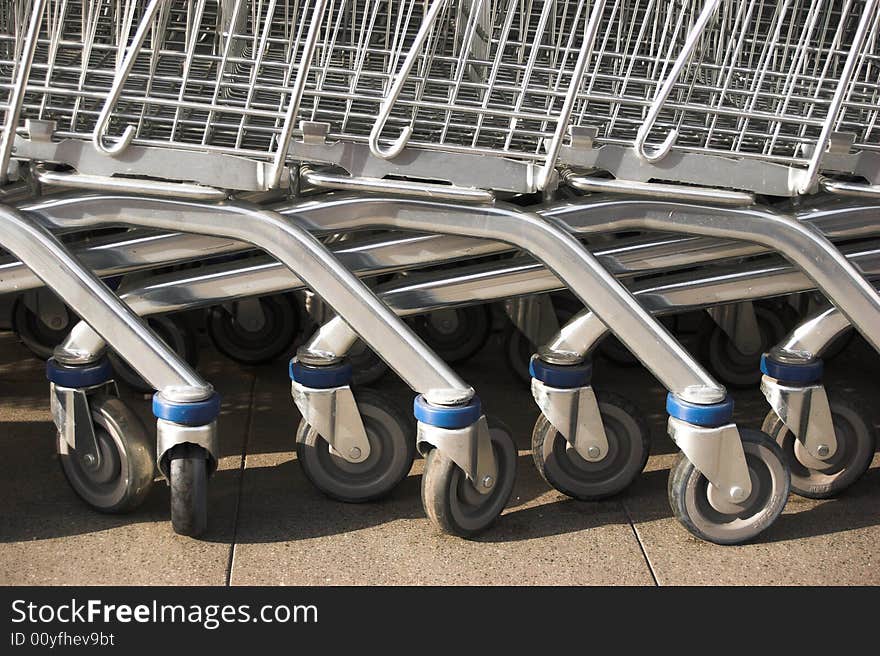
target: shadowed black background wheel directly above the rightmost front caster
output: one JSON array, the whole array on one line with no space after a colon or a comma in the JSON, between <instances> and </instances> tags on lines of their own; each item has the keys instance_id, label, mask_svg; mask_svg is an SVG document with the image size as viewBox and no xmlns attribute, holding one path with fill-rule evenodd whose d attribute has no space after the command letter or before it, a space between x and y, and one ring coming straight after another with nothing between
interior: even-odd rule
<instances>
[{"instance_id":1,"label":"shadowed black background wheel directly above the rightmost front caster","mask_svg":"<svg viewBox=\"0 0 880 656\"><path fill-rule=\"evenodd\" d=\"M735 389L754 387L761 382L761 354L772 348L787 332L779 307L755 305L755 316L761 334L761 345L754 353L743 353L730 337L708 316L706 329L701 331L701 359L719 381Z\"/></svg>"}]
</instances>

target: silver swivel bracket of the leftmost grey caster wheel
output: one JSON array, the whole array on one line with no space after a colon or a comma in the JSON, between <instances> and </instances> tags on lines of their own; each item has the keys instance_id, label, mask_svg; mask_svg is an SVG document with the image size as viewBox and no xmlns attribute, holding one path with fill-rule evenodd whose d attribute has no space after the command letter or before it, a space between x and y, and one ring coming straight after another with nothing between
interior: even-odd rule
<instances>
[{"instance_id":1,"label":"silver swivel bracket of the leftmost grey caster wheel","mask_svg":"<svg viewBox=\"0 0 880 656\"><path fill-rule=\"evenodd\" d=\"M112 396L119 396L113 381L91 387L62 387L49 383L52 420L58 432L68 446L81 454L83 461L93 467L101 465L101 450L95 436L89 395L104 390Z\"/></svg>"}]
</instances>

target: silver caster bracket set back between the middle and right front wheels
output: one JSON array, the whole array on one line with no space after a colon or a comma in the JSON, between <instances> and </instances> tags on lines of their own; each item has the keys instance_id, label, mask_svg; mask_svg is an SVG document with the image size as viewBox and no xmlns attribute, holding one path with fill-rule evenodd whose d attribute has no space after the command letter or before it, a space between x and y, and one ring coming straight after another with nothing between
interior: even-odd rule
<instances>
[{"instance_id":1,"label":"silver caster bracket set back between the middle and right front wheels","mask_svg":"<svg viewBox=\"0 0 880 656\"><path fill-rule=\"evenodd\" d=\"M553 427L588 462L608 455L608 438L590 385L563 389L532 378L532 396Z\"/></svg>"}]
</instances>

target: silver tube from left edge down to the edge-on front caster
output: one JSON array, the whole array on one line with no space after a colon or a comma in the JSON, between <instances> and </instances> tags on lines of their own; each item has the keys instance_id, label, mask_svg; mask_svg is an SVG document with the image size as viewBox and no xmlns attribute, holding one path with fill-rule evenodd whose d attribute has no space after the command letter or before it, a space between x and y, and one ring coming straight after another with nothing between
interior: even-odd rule
<instances>
[{"instance_id":1,"label":"silver tube from left edge down to the edge-on front caster","mask_svg":"<svg viewBox=\"0 0 880 656\"><path fill-rule=\"evenodd\" d=\"M83 320L100 330L124 360L172 401L213 392L125 303L77 262L45 228L0 205L3 247L14 253Z\"/></svg>"}]
</instances>

